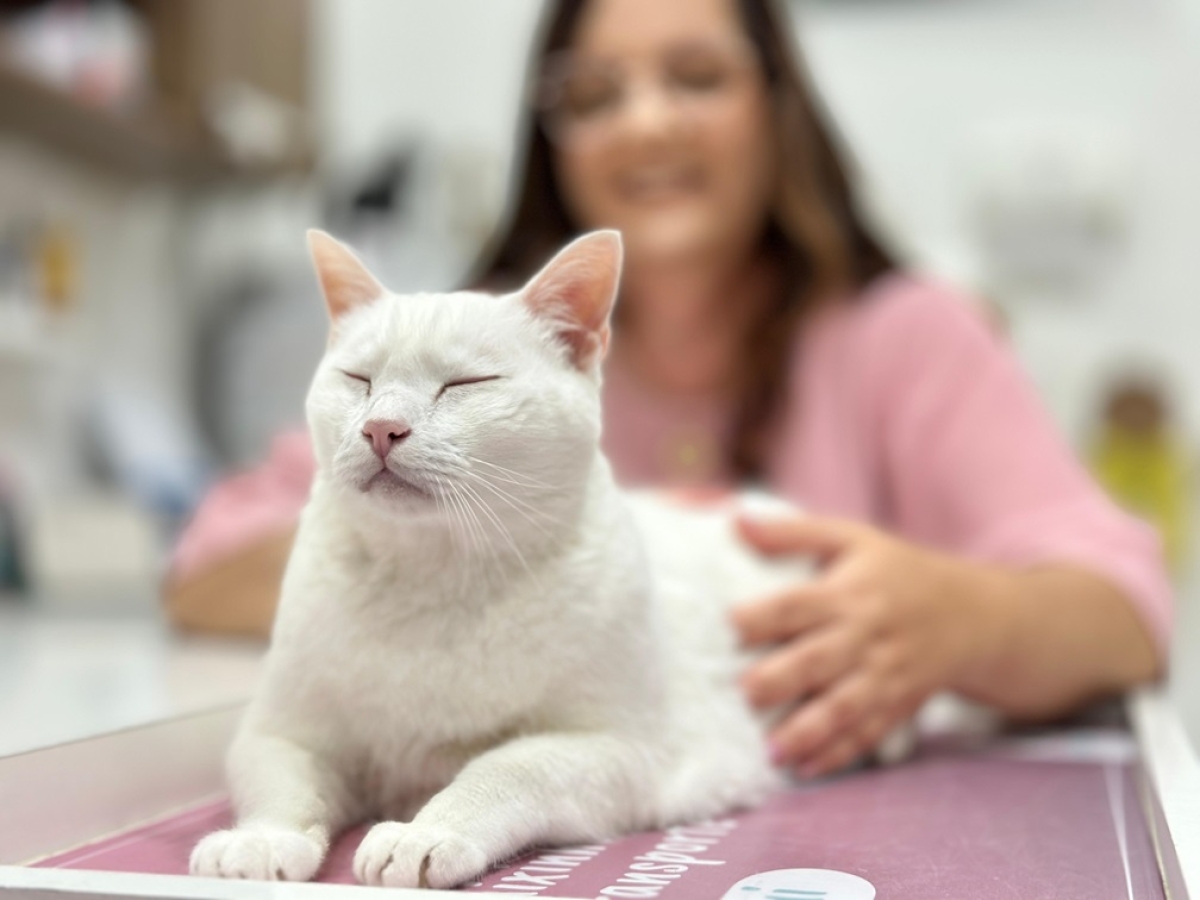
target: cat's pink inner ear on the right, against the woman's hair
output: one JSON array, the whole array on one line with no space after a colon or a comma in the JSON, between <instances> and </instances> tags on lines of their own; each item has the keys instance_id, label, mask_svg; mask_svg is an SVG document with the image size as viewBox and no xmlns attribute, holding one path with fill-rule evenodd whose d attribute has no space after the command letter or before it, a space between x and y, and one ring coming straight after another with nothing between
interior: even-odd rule
<instances>
[{"instance_id":1,"label":"cat's pink inner ear on the right, against the woman's hair","mask_svg":"<svg viewBox=\"0 0 1200 900\"><path fill-rule=\"evenodd\" d=\"M620 259L619 232L592 232L560 250L521 292L526 306L554 325L580 370L598 364L608 349Z\"/></svg>"}]
</instances>

